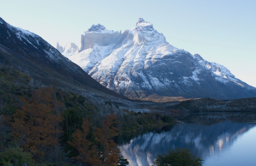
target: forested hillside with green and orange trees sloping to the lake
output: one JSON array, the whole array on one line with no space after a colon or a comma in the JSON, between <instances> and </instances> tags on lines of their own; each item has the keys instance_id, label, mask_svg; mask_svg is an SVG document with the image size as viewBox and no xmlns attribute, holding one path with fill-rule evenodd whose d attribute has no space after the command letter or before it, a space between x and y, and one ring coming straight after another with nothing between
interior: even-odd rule
<instances>
[{"instance_id":1,"label":"forested hillside with green and orange trees sloping to the lake","mask_svg":"<svg viewBox=\"0 0 256 166\"><path fill-rule=\"evenodd\" d=\"M113 138L173 123L158 113L100 105L0 66L0 165L127 164ZM97 102L95 102L97 103Z\"/></svg>"}]
</instances>

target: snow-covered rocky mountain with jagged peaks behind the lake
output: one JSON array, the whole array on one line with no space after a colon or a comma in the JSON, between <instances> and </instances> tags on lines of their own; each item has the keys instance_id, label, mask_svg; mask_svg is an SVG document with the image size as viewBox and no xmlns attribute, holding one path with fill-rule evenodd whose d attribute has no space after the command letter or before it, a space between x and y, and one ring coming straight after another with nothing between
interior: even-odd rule
<instances>
[{"instance_id":1,"label":"snow-covered rocky mountain with jagged peaks behind the lake","mask_svg":"<svg viewBox=\"0 0 256 166\"><path fill-rule=\"evenodd\" d=\"M80 49L68 58L108 89L129 98L256 96L256 88L227 68L170 45L142 18L123 33L93 25L81 35Z\"/></svg>"}]
</instances>

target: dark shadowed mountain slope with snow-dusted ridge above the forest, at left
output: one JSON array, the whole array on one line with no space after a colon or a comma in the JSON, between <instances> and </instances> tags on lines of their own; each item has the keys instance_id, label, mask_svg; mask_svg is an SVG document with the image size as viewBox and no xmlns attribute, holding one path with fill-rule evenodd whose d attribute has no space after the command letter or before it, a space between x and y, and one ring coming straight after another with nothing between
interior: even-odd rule
<instances>
[{"instance_id":1,"label":"dark shadowed mountain slope with snow-dusted ridge above the forest, at left","mask_svg":"<svg viewBox=\"0 0 256 166\"><path fill-rule=\"evenodd\" d=\"M0 63L26 72L46 85L76 90L87 89L126 99L100 85L40 36L13 27L2 18L0 18Z\"/></svg>"}]
</instances>

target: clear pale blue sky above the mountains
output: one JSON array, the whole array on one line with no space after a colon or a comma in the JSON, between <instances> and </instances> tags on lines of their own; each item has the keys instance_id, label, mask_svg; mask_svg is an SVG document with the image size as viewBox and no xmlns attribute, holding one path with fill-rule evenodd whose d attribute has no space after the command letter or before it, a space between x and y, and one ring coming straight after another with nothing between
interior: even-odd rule
<instances>
[{"instance_id":1,"label":"clear pale blue sky above the mountains","mask_svg":"<svg viewBox=\"0 0 256 166\"><path fill-rule=\"evenodd\" d=\"M79 45L92 24L124 32L142 17L174 47L256 87L256 0L0 0L0 17L54 47Z\"/></svg>"}]
</instances>

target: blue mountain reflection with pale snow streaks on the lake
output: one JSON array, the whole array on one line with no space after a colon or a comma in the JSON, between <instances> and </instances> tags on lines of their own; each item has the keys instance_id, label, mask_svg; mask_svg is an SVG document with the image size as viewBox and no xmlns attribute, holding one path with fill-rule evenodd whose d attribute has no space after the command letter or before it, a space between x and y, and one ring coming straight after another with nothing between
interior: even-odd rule
<instances>
[{"instance_id":1,"label":"blue mountain reflection with pale snow streaks on the lake","mask_svg":"<svg viewBox=\"0 0 256 166\"><path fill-rule=\"evenodd\" d=\"M239 116L240 119L237 119ZM245 116L253 117L253 120L247 118L245 122L243 116L233 114L189 115L189 118L181 119L190 119L191 123L179 123L171 130L160 133L148 132L118 146L130 166L151 166L157 154L167 153L176 147L187 148L206 160L211 155L221 155L223 149L231 147L239 136L256 126L256 123L248 123L255 122L255 114ZM191 121L191 118L197 119L197 122Z\"/></svg>"}]
</instances>

